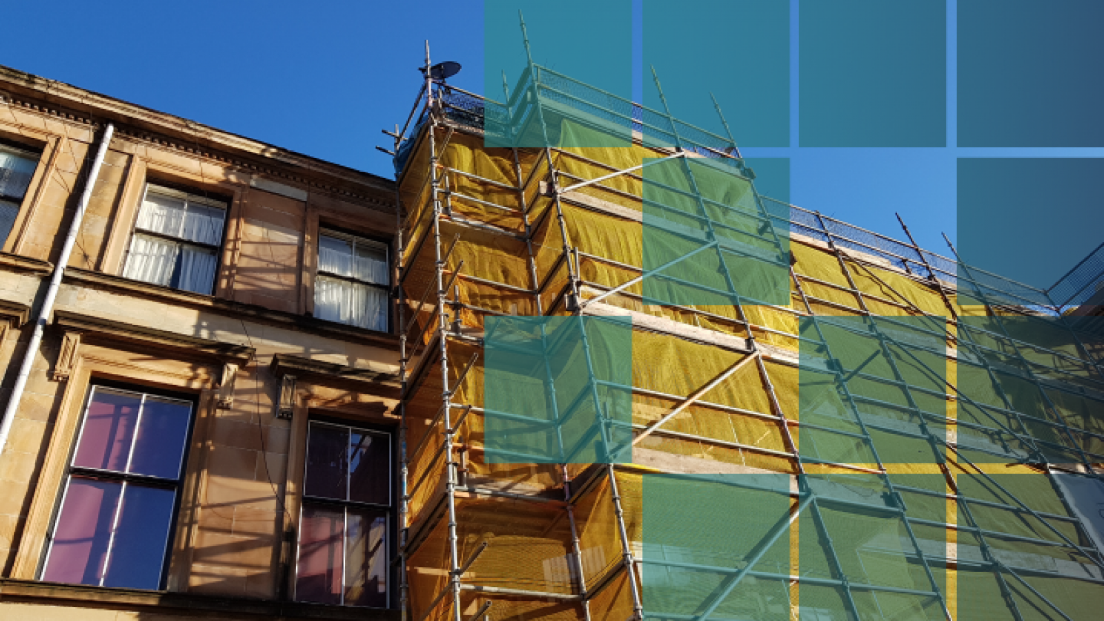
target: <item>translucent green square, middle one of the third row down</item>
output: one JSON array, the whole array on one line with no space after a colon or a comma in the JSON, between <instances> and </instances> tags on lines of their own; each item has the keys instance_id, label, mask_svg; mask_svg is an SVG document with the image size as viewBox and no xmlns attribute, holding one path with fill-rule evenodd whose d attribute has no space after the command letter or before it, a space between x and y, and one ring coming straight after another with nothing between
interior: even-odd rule
<instances>
[{"instance_id":1,"label":"translucent green square, middle one of the third row down","mask_svg":"<svg viewBox=\"0 0 1104 621\"><path fill-rule=\"evenodd\" d=\"M803 460L942 461L948 388L941 318L803 317L798 330Z\"/></svg>"}]
</instances>

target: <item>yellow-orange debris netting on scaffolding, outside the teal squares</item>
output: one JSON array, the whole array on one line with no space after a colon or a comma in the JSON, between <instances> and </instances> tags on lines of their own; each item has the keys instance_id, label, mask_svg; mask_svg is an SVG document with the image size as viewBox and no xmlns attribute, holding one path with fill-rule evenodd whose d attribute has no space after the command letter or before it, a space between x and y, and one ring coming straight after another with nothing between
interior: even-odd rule
<instances>
[{"instance_id":1,"label":"yellow-orange debris netting on scaffolding, outside the teal squares","mask_svg":"<svg viewBox=\"0 0 1104 621\"><path fill-rule=\"evenodd\" d=\"M437 147L435 170L431 170L431 133ZM432 124L414 139L417 144L400 177L399 190L405 210L400 284L408 357L404 408L408 461L405 526L410 540L405 551L411 619L437 621L455 614L450 593L437 599L448 587L453 562L445 511L447 430L443 417L438 417L443 397L447 396L452 424L463 417L455 429L452 455L458 472L455 498L458 562L464 564L486 544L461 577L461 618L475 614L490 601L487 614L496 621L581 621L584 607L593 621L626 621L634 612L629 580L633 576L638 579L638 573L629 572L624 565L625 549L606 466L488 463L484 455L484 360L478 339L488 316L570 314L573 292L577 291L582 299L594 298L639 277L644 262L640 171L569 191L559 201L551 191L553 171L554 181L562 189L669 152L640 145L546 151L485 148L481 136ZM442 211L436 219L432 200L434 177L438 180ZM945 318L951 315L948 304L959 316L986 316L985 308L958 306L953 285L942 284L945 298L935 282L870 254L837 252L825 242L797 233L789 235L788 245L794 277L787 306L646 304L639 283L595 303L595 307L605 307L607 314L634 316L635 431L641 433L679 410L636 444L634 464L614 469L629 551L634 555L638 556L641 549L641 473L670 464L699 473L799 472L793 454L797 446L787 444L786 430L788 427L794 444L799 445L796 361L803 317L871 314ZM443 347L438 286L447 287L440 292L446 299L444 323L453 333L444 337ZM949 386L936 386L934 390L945 389L947 393L947 436L957 438L959 433L965 436L974 432L956 424L960 408L954 392L957 330L954 322L946 322L945 327L947 364L943 370ZM749 333L761 346L767 346L762 358L741 366L724 381L690 399L749 357L750 349L743 340ZM740 343L744 345L741 347ZM442 348L448 359L447 392L442 379ZM1086 372L1075 368L1075 362L1053 355L1040 354L1039 358L1041 364L1064 365L1071 372ZM458 381L465 369L463 381ZM1070 424L1104 438L1104 423L1098 411L1094 411L1096 401L1063 391L1054 391L1051 397ZM933 445L925 440L911 443L895 438L893 442L926 457L917 457L913 464L887 464L887 470L893 475L944 475L945 484L936 480L936 488L931 491L936 495L955 494L955 477L976 473L975 469L959 464L955 453L943 446L937 448L941 454L936 459L932 455ZM1085 450L1104 453L1104 440L1086 435ZM862 451L857 449L853 454ZM946 463L941 465L943 461ZM856 470L877 466L806 464L806 472L853 474ZM1028 466L997 467L984 463L981 466L994 473L1039 475L1039 471ZM565 502L565 475L572 492L570 502ZM1034 484L1047 482L1042 475L1033 478ZM1066 507L1052 502L1054 496L1050 492L1025 490L1023 493L1047 498L1042 506L1033 507L1036 511L1070 515ZM1008 498L988 501L1009 504ZM946 511L940 511L941 506ZM960 511L953 496L940 499L936 511L925 515L936 525L917 527L917 531L926 533L922 538L931 539L932 544L953 547L967 537L943 524L957 524ZM1053 539L1038 524L1028 524L1025 512L990 506L978 513L995 529L1027 538ZM577 534L577 556L572 519ZM1050 522L1060 524L1071 538L1082 537L1069 523ZM796 536L795 523L792 533L795 541ZM1006 541L996 548L1009 555L1054 556L1053 550L1040 546L1029 549L1022 541ZM795 543L795 555L796 549ZM792 569L798 570L796 556ZM955 572L944 572L953 600L958 589ZM991 578L991 572L986 576ZM970 588L976 583L979 592L995 588L974 578ZM1032 585L1059 599L1068 599L1066 594L1100 597L1096 592L1100 586L1095 582L1074 588L1068 581L1048 582L1040 578ZM580 597L584 588L585 602ZM807 601L815 600L813 593L806 593ZM796 582L792 585L789 606L796 607L799 601ZM790 609L790 614L797 617L796 608Z\"/></svg>"}]
</instances>

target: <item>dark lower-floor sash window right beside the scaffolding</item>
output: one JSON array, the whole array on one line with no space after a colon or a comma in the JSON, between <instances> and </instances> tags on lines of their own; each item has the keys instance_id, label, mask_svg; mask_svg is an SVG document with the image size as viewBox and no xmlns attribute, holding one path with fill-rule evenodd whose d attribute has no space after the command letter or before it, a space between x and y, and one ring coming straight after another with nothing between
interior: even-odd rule
<instances>
[{"instance_id":1,"label":"dark lower-floor sash window right beside the scaffolding","mask_svg":"<svg viewBox=\"0 0 1104 621\"><path fill-rule=\"evenodd\" d=\"M386 608L391 436L311 421L295 599Z\"/></svg>"}]
</instances>

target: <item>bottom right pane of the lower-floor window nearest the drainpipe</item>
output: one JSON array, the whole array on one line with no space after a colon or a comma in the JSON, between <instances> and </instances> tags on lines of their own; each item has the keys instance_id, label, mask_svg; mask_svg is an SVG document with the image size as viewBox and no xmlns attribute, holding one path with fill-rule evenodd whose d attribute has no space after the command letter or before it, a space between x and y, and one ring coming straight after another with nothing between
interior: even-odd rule
<instances>
[{"instance_id":1,"label":"bottom right pane of the lower-floor window nearest the drainpipe","mask_svg":"<svg viewBox=\"0 0 1104 621\"><path fill-rule=\"evenodd\" d=\"M107 559L105 587L157 589L160 586L174 499L173 490L127 484Z\"/></svg>"}]
</instances>

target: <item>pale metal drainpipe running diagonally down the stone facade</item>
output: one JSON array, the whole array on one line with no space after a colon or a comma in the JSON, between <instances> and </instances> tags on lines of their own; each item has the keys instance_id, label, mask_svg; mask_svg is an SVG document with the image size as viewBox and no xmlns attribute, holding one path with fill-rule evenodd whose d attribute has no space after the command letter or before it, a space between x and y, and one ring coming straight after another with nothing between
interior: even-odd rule
<instances>
[{"instance_id":1,"label":"pale metal drainpipe running diagonally down the stone facade","mask_svg":"<svg viewBox=\"0 0 1104 621\"><path fill-rule=\"evenodd\" d=\"M26 345L23 354L23 362L19 367L19 376L15 377L15 386L11 389L11 397L8 398L8 406L4 408L3 418L0 419L0 455L3 454L8 445L8 434L11 432L12 422L15 420L15 411L19 410L19 402L23 397L23 389L26 388L26 380L31 377L31 367L34 365L34 355L42 344L42 333L50 320L50 314L54 309L54 299L57 297L57 290L62 284L62 276L65 274L65 265L68 263L70 254L73 253L73 245L76 243L76 234L81 230L81 221L84 220L84 212L88 208L88 199L92 198L93 187L99 176L99 167L104 164L104 156L107 154L107 146L112 143L112 135L115 126L110 123L104 129L104 136L99 139L99 149L96 151L96 159L92 162L92 170L88 171L88 180L84 185L84 193L81 194L81 202L77 203L76 213L73 214L73 222L70 223L68 234L65 236L65 245L62 246L62 254L57 257L54 272L50 277L50 288L46 290L46 297L42 301L42 308L39 310L39 318L34 323L34 333L31 341Z\"/></svg>"}]
</instances>

